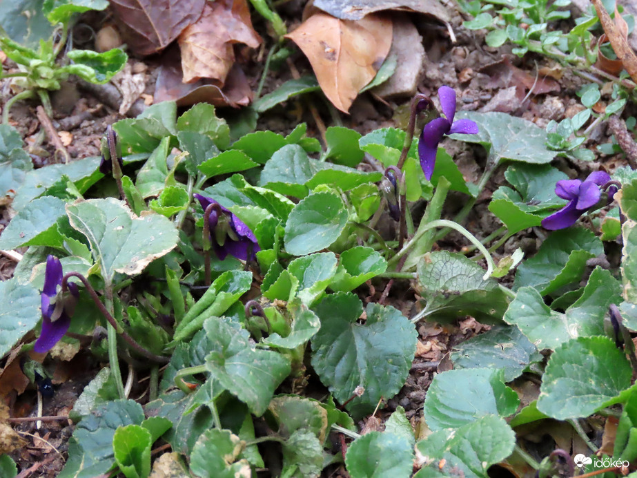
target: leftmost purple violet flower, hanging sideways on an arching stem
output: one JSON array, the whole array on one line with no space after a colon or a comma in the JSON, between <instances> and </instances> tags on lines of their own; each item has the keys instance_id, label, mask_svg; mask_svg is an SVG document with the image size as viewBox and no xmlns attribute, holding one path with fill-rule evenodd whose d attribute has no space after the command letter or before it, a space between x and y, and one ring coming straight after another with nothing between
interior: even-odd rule
<instances>
[{"instance_id":1,"label":"leftmost purple violet flower, hanging sideways on an arching stem","mask_svg":"<svg viewBox=\"0 0 637 478\"><path fill-rule=\"evenodd\" d=\"M41 294L42 330L33 347L33 350L39 354L51 350L53 345L66 334L71 323L72 312L70 308L66 307L66 304L62 308L59 317L57 319L53 318L56 299L63 300L57 293L57 288L62 285L62 279L62 264L60 260L55 256L49 255L46 258L44 287ZM79 296L77 285L68 283L68 289L75 298Z\"/></svg>"}]
</instances>

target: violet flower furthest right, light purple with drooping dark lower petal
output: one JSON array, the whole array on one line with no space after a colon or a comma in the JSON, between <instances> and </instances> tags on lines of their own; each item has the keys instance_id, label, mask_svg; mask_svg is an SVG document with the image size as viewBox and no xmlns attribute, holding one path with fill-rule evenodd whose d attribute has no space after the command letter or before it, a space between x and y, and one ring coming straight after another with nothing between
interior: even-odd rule
<instances>
[{"instance_id":1,"label":"violet flower furthest right, light purple with drooping dark lower petal","mask_svg":"<svg viewBox=\"0 0 637 478\"><path fill-rule=\"evenodd\" d=\"M551 231L572 226L591 207L597 204L602 196L600 187L609 182L611 177L604 171L590 173L583 182L580 180L560 180L555 186L555 193L569 203L559 211L542 220L542 227ZM616 186L608 188L608 200L612 201L617 192Z\"/></svg>"}]
</instances>

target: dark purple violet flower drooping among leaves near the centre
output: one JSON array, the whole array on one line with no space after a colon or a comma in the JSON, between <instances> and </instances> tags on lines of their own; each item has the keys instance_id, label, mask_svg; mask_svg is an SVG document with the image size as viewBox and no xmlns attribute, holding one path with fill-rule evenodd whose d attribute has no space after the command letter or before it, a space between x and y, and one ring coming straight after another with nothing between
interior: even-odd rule
<instances>
[{"instance_id":1,"label":"dark purple violet flower drooping among leaves near the centre","mask_svg":"<svg viewBox=\"0 0 637 478\"><path fill-rule=\"evenodd\" d=\"M224 213L224 219L229 230L226 230L226 233L224 233L225 238L223 239L222 244L217 241L218 234L216 233L217 231L215 231L215 227L219 224L217 210L213 209L210 211L210 216L208 218L210 240L213 243L213 249L215 249L215 254L217 254L219 260L224 260L228 254L241 260L248 260L248 258L254 259L255 253L260 251L261 248L259 247L259 243L257 242L257 238L253 231L251 231L242 220L237 218L237 216L235 216L231 211L228 211L228 209L223 207L213 198L208 198L201 194L195 194L195 198L197 198L199 204L202 205L204 211L206 211L206 207L210 204L218 204L219 208Z\"/></svg>"}]
</instances>

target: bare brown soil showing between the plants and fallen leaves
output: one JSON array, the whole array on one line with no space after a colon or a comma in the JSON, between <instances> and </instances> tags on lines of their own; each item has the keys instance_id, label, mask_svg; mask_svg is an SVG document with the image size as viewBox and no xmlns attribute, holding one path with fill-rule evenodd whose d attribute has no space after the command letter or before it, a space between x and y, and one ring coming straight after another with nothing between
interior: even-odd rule
<instances>
[{"instance_id":1,"label":"bare brown soil showing between the plants and fallen leaves","mask_svg":"<svg viewBox=\"0 0 637 478\"><path fill-rule=\"evenodd\" d=\"M300 10L298 8L286 8L282 13L286 15L284 19L288 22L290 30L299 23ZM527 55L523 60L518 59L511 55L510 48L507 47L488 48L484 44L483 32L463 28L462 21L466 18L458 12L453 12L451 17L451 29L455 34L455 42L452 41L448 28L435 19L417 14L409 15L422 35L427 53L418 84L418 90L421 93L435 97L438 88L444 84L451 86L458 92L459 109L502 111L524 117L541 127L546 126L549 120L560 121L564 117L572 117L580 111L575 92L584 80L565 70L564 75L559 80L551 79L552 83L545 88L549 90L547 93L535 93L527 86L522 86L522 91L520 91L520 83L533 85L536 75L538 75L538 69L550 70L555 68L556 64L537 55ZM92 15L88 21L99 24L103 19ZM255 28L258 30L262 26L262 24L257 23ZM237 56L242 61L251 87L255 89L262 73L264 52L242 50ZM293 54L292 59L300 73L311 73L308 61L300 52ZM133 65L143 65L143 67L138 66L137 68L146 68L145 93L153 95L159 59L151 57L131 59L130 61ZM5 65L10 67L10 61L7 60ZM520 75L525 79L524 82L520 82ZM291 72L285 65L279 70L273 71L266 81L264 93L274 90L291 77ZM520 101L520 95L524 97L523 101ZM259 118L257 129L289 133L299 122L306 122L308 134L319 137L315 121L307 107L308 102L312 102L317 107L327 126L333 124L331 117L334 113L333 108L328 108L326 100L320 95L311 93L301 100L290 101L285 106L274 108L265 113ZM113 108L114 104L108 104L104 101L104 97L97 97L86 88L82 88L77 82L70 82L63 90L54 93L52 104L55 109L54 126L58 128L58 131L68 131L69 133L66 148L72 159L99 155L99 144L106 130L106 125L121 119L121 115ZM344 126L355 128L362 134L386 126L404 127L407 104L409 104L409 98L386 100L366 93L355 101L351 108L351 115L340 114L340 121ZM35 104L30 103L15 105L12 108L11 120L12 124L23 135L28 151L32 155L36 167L39 167L53 161L52 153L55 149L48 140L37 144L40 124L35 115L35 106ZM219 111L221 116L226 113L227 111L224 109ZM61 122L65 121L66 123L61 125ZM66 128L61 128L61 126L66 125L68 125ZM596 130L591 132L590 137L591 140L587 144L589 147L608 142L609 135L606 132L605 124L600 124ZM485 162L482 148L451 141L449 141L448 146L449 153L455 158L464 177L476 182ZM607 167L609 171L623 164L620 157L605 157L600 153L596 153L596 156L600 164ZM582 177L589 173L593 164L559 160L557 165L560 169L570 173L571 176ZM474 212L467 220L467 229L478 238L489 236L501 225L487 211L487 204L491 193L505 182L504 169L500 168L492 176L487 188L478 200ZM453 216L453 213L462 207L462 195L453 195L452 199L448 201L449 205L444 211L444 217ZM423 204L414 205L414 211L422 210L422 208ZM6 227L11 215L10 208L3 207L1 209L0 231ZM533 254L544 236L542 231L536 229L522 231L507 241L497 251L496 257L511 254L517 247L522 247L527 255ZM457 251L463 245L466 245L464 239L451 234L444 242L440 242L438 247ZM611 244L608 247L614 246ZM14 265L12 259L0 256L0 279L10 278ZM505 281L507 280L511 281L512 276L505 278ZM373 297L374 300L378 300L382 289L384 289L384 283L376 285L375 288L371 287L369 294L366 296L362 294L362 298L371 300ZM397 307L406 316L413 316L420 307L415 291L413 288L407 287L393 287L386 304ZM418 327L420 341L411 374L401 392L389 400L389 406L380 412L381 421L384 416L400 405L406 410L407 417L417 424L422 415L422 404L429 383L431 383L432 374L448 370L449 353L454 345L488 328L480 325L473 318L467 318L458 325L444 327L431 323L420 324ZM12 364L5 362L2 365L9 365L0 379L0 392L10 398L10 415L12 417L32 416L37 408L35 390L25 390L21 394L17 394L14 388L8 390L6 384L17 380L15 377L19 375L18 365L17 362ZM96 359L84 354L84 352L75 356L70 362L55 361L55 394L52 398L45 399L42 415L68 414L77 396L92 376L97 374L100 366ZM10 378L9 373L15 374L14 378ZM131 394L133 398L144 393L144 379L147 378L139 376L136 379L137 385ZM4 388L3 384L5 384ZM22 383L22 385L24 384ZM368 420L364 425L380 426L374 420ZM23 438L28 441L28 446L14 452L12 457L17 461L21 470L36 466L30 475L23 476L56 476L63 467L65 452L68 449L68 438L72 433L70 423L68 421L45 421L39 430L34 422L20 423L16 426L16 430L21 432Z\"/></svg>"}]
</instances>

